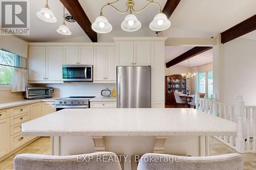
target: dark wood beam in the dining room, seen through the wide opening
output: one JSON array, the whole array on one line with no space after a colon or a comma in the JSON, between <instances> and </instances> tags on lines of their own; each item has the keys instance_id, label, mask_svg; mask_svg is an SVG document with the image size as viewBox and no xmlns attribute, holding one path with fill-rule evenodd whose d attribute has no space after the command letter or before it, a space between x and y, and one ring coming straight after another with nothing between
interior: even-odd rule
<instances>
[{"instance_id":1,"label":"dark wood beam in the dining room, seen through the wide opening","mask_svg":"<svg viewBox=\"0 0 256 170\"><path fill-rule=\"evenodd\" d=\"M212 48L212 46L196 46L196 47L192 48L191 50L183 53L182 55L176 57L175 59L167 62L166 68L169 68L170 66L178 64L182 61L185 61L191 57L197 56L203 52L210 50L211 48Z\"/></svg>"}]
</instances>

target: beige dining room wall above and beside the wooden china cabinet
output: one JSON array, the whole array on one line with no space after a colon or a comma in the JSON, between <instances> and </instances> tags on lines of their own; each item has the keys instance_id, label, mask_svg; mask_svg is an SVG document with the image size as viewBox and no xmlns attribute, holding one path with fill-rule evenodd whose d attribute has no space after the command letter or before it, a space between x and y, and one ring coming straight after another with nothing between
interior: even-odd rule
<instances>
[{"instance_id":1,"label":"beige dining room wall above and beside the wooden china cabinet","mask_svg":"<svg viewBox=\"0 0 256 170\"><path fill-rule=\"evenodd\" d=\"M166 68L165 67L165 76L170 76L170 75L181 75L185 74L188 71L188 67L181 66L181 65L174 65L172 67ZM190 68L189 68L190 71ZM192 87L192 82L191 80L187 80L187 90L190 90L190 93L193 93L193 87Z\"/></svg>"}]
</instances>

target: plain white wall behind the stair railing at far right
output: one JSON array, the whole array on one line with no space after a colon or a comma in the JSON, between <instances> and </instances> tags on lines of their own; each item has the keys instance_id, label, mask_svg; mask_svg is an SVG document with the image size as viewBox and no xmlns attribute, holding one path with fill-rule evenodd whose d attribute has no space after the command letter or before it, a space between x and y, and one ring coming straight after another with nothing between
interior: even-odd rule
<instances>
[{"instance_id":1,"label":"plain white wall behind the stair railing at far right","mask_svg":"<svg viewBox=\"0 0 256 170\"><path fill-rule=\"evenodd\" d=\"M219 60L220 101L235 104L242 95L246 105L256 105L256 41L238 38L225 43Z\"/></svg>"}]
</instances>

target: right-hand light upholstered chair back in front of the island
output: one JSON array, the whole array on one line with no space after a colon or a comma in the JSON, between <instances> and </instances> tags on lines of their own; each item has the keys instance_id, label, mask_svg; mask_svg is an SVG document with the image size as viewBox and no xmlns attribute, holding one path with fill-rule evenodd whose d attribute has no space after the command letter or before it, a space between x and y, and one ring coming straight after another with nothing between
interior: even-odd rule
<instances>
[{"instance_id":1,"label":"right-hand light upholstered chair back in front of the island","mask_svg":"<svg viewBox=\"0 0 256 170\"><path fill-rule=\"evenodd\" d=\"M166 154L145 154L137 170L243 170L243 156L225 154L206 157L185 157Z\"/></svg>"}]
</instances>

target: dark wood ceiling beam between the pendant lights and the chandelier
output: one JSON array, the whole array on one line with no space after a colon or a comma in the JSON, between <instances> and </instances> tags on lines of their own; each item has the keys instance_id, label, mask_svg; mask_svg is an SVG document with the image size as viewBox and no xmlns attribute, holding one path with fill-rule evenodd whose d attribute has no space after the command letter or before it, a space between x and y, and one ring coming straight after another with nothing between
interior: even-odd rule
<instances>
[{"instance_id":1,"label":"dark wood ceiling beam between the pendant lights and the chandelier","mask_svg":"<svg viewBox=\"0 0 256 170\"><path fill-rule=\"evenodd\" d=\"M92 23L89 20L86 12L84 12L78 0L60 0L70 14L76 19L79 26L88 35L92 42L97 42L97 33L91 28Z\"/></svg>"}]
</instances>

